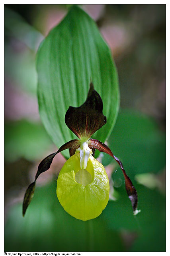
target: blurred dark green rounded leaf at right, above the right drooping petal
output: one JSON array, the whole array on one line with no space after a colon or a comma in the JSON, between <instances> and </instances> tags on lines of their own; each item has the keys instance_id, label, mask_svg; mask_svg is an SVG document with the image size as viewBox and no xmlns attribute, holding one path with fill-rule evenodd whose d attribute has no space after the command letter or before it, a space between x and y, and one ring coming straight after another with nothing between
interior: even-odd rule
<instances>
[{"instance_id":1,"label":"blurred dark green rounded leaf at right, above the right drooping petal","mask_svg":"<svg viewBox=\"0 0 170 256\"><path fill-rule=\"evenodd\" d=\"M130 110L121 110L108 139L108 146L130 178L139 173L159 172L165 166L165 134L151 118ZM104 154L102 163L112 158ZM118 170L112 176L121 175Z\"/></svg>"}]
</instances>

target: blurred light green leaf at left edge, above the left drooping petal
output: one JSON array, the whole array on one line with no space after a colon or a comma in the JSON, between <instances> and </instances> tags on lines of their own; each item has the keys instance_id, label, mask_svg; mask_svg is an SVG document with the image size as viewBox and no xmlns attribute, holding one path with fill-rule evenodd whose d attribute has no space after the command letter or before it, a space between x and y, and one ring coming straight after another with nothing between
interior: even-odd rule
<instances>
[{"instance_id":1,"label":"blurred light green leaf at left edge, above the left drooping petal","mask_svg":"<svg viewBox=\"0 0 170 256\"><path fill-rule=\"evenodd\" d=\"M5 124L5 160L42 159L52 142L42 125L26 120Z\"/></svg>"}]
</instances>

